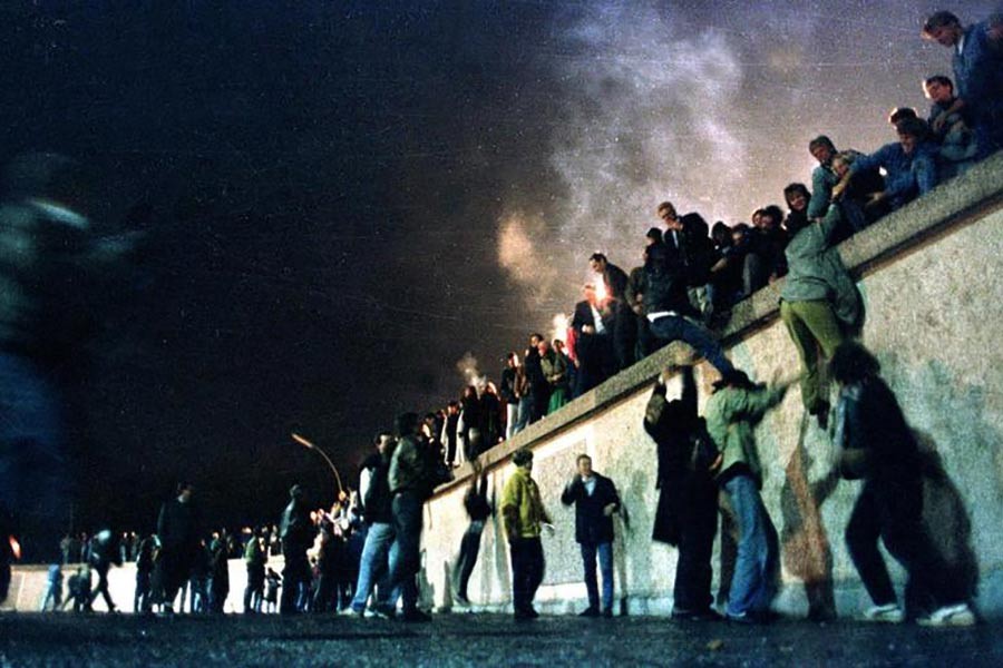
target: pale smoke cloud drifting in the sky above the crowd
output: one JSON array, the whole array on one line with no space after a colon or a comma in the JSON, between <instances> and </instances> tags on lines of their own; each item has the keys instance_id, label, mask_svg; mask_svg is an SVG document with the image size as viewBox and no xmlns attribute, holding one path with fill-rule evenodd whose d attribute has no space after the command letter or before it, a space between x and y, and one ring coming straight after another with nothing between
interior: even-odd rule
<instances>
[{"instance_id":1,"label":"pale smoke cloud drifting in the sky above the crowd","mask_svg":"<svg viewBox=\"0 0 1003 668\"><path fill-rule=\"evenodd\" d=\"M692 32L644 0L569 11L554 58L566 82L551 156L563 196L546 220L509 214L499 225L500 264L530 308L569 308L595 250L624 271L640 264L660 202L713 223L748 190L737 38Z\"/></svg>"}]
</instances>

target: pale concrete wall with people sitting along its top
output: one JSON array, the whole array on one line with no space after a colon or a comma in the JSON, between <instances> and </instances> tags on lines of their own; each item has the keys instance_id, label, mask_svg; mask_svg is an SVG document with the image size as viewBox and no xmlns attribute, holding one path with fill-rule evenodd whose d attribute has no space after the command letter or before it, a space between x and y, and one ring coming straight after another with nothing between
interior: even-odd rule
<instances>
[{"instance_id":1,"label":"pale concrete wall with people sitting along its top","mask_svg":"<svg viewBox=\"0 0 1003 668\"><path fill-rule=\"evenodd\" d=\"M971 515L982 571L978 602L989 612L1003 611L1001 198L1003 155L997 155L840 247L866 302L863 342L879 357L911 424L942 455ZM770 286L740 304L726 332L730 357L756 380L798 373L795 346L778 320L778 293L779 285ZM535 451L534 477L556 523L556 532L543 539L547 569L537 597L543 609L573 611L585 601L574 511L559 503L582 452L614 480L624 501L615 546L621 607L631 613L671 609L676 551L650 538L656 459L641 420L658 370L681 350L661 351L483 455L498 495L512 473L508 455L524 445ZM714 377L707 364L699 367L701 405ZM840 615L861 610L869 601L843 537L860 483L831 474L829 438L806 419L797 387L762 422L757 439L766 465L763 498L782 544L783 590L776 607L805 612L804 581L820 579ZM462 494L470 470L460 472L426 510L427 595L445 608L451 605L448 571L467 523ZM500 533L496 513L469 588L469 598L484 608L504 609L510 601ZM902 582L896 567L893 576Z\"/></svg>"}]
</instances>

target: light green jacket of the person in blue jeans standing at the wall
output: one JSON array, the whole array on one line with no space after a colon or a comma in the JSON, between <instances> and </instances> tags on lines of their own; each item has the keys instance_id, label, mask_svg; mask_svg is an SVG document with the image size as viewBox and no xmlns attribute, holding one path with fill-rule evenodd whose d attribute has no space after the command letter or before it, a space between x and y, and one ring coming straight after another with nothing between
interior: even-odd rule
<instances>
[{"instance_id":1,"label":"light green jacket of the person in blue jeans standing at the wall","mask_svg":"<svg viewBox=\"0 0 1003 668\"><path fill-rule=\"evenodd\" d=\"M762 465L756 450L753 428L766 412L780 403L785 390L722 387L707 402L707 431L723 458L718 478L733 466L743 466L762 487Z\"/></svg>"}]
</instances>

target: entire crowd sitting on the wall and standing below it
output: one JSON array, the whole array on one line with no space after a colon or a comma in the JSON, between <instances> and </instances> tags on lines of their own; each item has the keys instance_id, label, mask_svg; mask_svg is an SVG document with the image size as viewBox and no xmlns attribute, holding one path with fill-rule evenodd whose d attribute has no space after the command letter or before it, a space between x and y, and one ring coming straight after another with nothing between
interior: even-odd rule
<instances>
[{"instance_id":1,"label":"entire crowd sitting on the wall and standing below it","mask_svg":"<svg viewBox=\"0 0 1003 668\"><path fill-rule=\"evenodd\" d=\"M469 605L481 532L497 510L509 546L514 615L530 620L537 617L533 601L544 573L541 536L552 527L532 475L533 452L515 452L515 471L497 509L488 501L479 455L660 347L682 341L717 370L719 380L701 416L692 369L669 367L643 418L658 451L652 537L679 549L673 617L767 621L780 550L760 495L754 425L780 403L791 381L752 382L726 356L714 332L739 299L782 278L780 317L800 358L805 411L830 431L841 474L865 481L846 529L854 564L874 602L865 618L973 623L977 568L973 559L945 560L936 527L923 517L924 481L933 465L880 377L877 360L854 341L861 301L835 248L1003 147L1003 18L965 27L939 11L928 17L923 35L952 49L954 78L924 79L931 101L926 118L907 107L889 115L897 140L864 154L837 148L819 135L807 147L818 160L810 186L791 183L783 189L786 213L767 205L748 224L709 226L698 213L680 215L673 203L658 204L659 223L640 244L641 266L627 272L594 253L588 262L595 281L583 287L564 337L533 333L525 351L506 355L497 385L480 379L442 410L399 415L392 430L376 436L358 490L344 492L330 510L311 510L298 484L277 525L206 534L194 490L182 483L162 508L154 536L103 530L92 538L67 537L64 562L80 563L69 579L74 608L89 610L103 596L115 610L108 570L134 560L137 611L158 608L172 615L185 606L187 590L189 611L223 612L227 560L240 557L247 569L246 613L341 611L428 621L418 605L422 505L466 461L475 475L464 498L470 524L454 573L454 600ZM879 321L880 314L874 316ZM838 386L835 407L820 382L826 364ZM670 399L668 381L675 375L682 376L682 393ZM561 501L576 509L575 539L588 597L583 616L610 617L612 518L621 500L590 456L578 456L575 466ZM720 499L738 527L721 612L710 595ZM879 539L908 572L904 605L877 549ZM281 576L267 567L277 553L284 560ZM42 609L68 605L61 601L60 564L50 569L49 582Z\"/></svg>"}]
</instances>

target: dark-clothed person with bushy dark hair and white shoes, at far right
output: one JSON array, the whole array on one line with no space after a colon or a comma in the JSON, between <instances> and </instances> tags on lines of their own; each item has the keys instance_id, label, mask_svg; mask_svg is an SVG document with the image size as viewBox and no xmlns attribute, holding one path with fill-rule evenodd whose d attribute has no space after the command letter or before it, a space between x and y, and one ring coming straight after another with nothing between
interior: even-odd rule
<instances>
[{"instance_id":1,"label":"dark-clothed person with bushy dark hair and white shoes, at far right","mask_svg":"<svg viewBox=\"0 0 1003 668\"><path fill-rule=\"evenodd\" d=\"M925 626L975 623L970 601L977 566L974 559L951 554L957 550L943 549L945 542L965 542L967 537L952 530L945 521L952 513L936 508L935 493L924 489L929 466L895 394L878 375L878 361L863 345L846 342L829 366L840 387L835 436L840 473L864 480L846 528L850 557L874 602L864 618L898 622L908 615ZM908 573L905 611L878 539Z\"/></svg>"}]
</instances>

